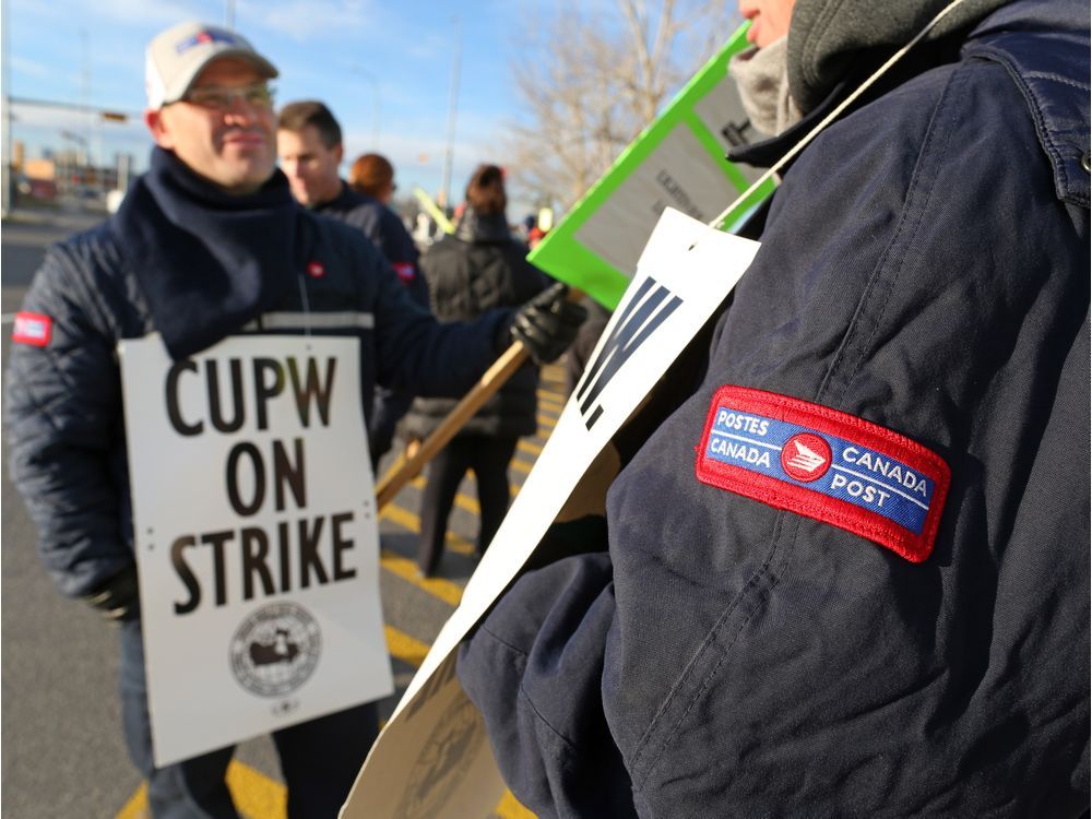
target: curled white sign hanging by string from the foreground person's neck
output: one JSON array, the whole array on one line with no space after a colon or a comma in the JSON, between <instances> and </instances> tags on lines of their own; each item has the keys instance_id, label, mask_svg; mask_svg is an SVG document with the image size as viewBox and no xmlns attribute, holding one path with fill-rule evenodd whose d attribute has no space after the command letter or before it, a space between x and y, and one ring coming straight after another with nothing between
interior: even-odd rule
<instances>
[{"instance_id":1,"label":"curled white sign hanging by string from the foreground person's neck","mask_svg":"<svg viewBox=\"0 0 1092 819\"><path fill-rule=\"evenodd\" d=\"M575 393L368 756L342 819L456 819L497 806L503 782L482 717L455 676L459 643L562 511L568 517L602 505L614 476L608 444L615 434L724 301L758 247L664 211Z\"/></svg>"}]
</instances>

